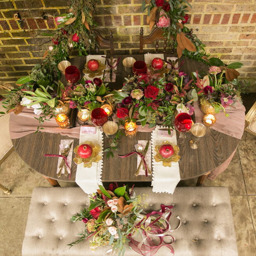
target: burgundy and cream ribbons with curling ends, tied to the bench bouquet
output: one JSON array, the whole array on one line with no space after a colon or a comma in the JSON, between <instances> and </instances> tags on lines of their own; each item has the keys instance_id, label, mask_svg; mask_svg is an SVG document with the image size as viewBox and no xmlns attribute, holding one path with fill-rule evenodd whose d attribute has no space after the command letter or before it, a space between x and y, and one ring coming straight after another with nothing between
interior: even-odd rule
<instances>
[{"instance_id":1,"label":"burgundy and cream ribbons with curling ends, tied to the bench bouquet","mask_svg":"<svg viewBox=\"0 0 256 256\"><path fill-rule=\"evenodd\" d=\"M174 249L172 247L172 244L174 243L175 239L173 236L169 234L169 232L173 232L177 230L181 225L181 219L179 216L177 218L180 220L180 223L177 228L174 230L171 230L171 226L169 224L169 219L172 215L171 209L172 206L166 206L161 204L161 211L153 211L148 214L141 215L141 220L137 223L136 227L138 227L142 231L142 241L138 242L136 241L132 235L130 234L128 237L131 240L129 242L129 246L136 251L137 253L140 253L143 256L153 256L161 247L168 247L171 251L171 253L174 254ZM155 215L158 215L157 217ZM154 219L154 221L151 221L151 218ZM160 227L157 224L157 221L161 221L163 228ZM143 227L143 228L141 228ZM150 231L149 231L150 230ZM150 236L157 236L159 238L158 244L155 244L154 241ZM164 241L164 236L171 237L171 242L166 243Z\"/></svg>"}]
</instances>

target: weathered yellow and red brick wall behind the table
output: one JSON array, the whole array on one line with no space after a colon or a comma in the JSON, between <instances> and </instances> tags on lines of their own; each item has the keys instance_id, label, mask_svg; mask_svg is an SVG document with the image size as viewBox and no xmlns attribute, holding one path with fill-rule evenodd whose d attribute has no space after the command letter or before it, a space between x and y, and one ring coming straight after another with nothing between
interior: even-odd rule
<instances>
[{"instance_id":1,"label":"weathered yellow and red brick wall behind the table","mask_svg":"<svg viewBox=\"0 0 256 256\"><path fill-rule=\"evenodd\" d=\"M113 31L116 53L137 53L140 26L149 33L142 0L100 0L94 17L103 36ZM225 63L239 61L240 78L256 80L256 0L189 0L187 27L207 53ZM14 84L40 63L50 45L42 32L56 29L53 17L67 12L67 0L0 0L0 81ZM15 16L15 14L20 16ZM43 45L41 45L43 44Z\"/></svg>"}]
</instances>

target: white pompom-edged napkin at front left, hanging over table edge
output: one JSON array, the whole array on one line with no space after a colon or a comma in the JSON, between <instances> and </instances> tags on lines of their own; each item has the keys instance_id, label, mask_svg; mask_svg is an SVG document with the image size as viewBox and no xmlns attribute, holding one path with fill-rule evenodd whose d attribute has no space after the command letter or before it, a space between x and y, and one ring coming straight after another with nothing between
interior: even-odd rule
<instances>
[{"instance_id":1,"label":"white pompom-edged napkin at front left, hanging over table edge","mask_svg":"<svg viewBox=\"0 0 256 256\"><path fill-rule=\"evenodd\" d=\"M99 144L103 148L103 134L99 127L81 126L79 144L85 141ZM99 155L103 156L103 151L100 151ZM93 162L91 168L84 168L84 163L77 165L76 184L85 193L91 194L96 192L99 189L99 185L102 185L102 165L103 160L100 160L98 163Z\"/></svg>"}]
</instances>

